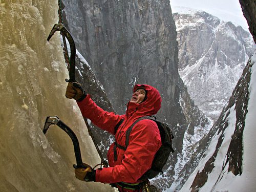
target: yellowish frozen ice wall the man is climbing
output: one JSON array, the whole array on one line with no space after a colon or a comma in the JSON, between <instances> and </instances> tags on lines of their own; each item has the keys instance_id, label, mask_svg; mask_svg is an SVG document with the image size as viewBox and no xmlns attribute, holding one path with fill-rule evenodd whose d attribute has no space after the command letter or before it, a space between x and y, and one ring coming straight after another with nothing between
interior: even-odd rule
<instances>
[{"instance_id":1,"label":"yellowish frozen ice wall the man is climbing","mask_svg":"<svg viewBox=\"0 0 256 192\"><path fill-rule=\"evenodd\" d=\"M75 179L69 136L57 126L42 133L46 117L57 115L76 133L83 161L100 161L76 103L65 97L68 71L60 36L46 40L57 9L57 0L1 1L1 191L113 190Z\"/></svg>"}]
</instances>

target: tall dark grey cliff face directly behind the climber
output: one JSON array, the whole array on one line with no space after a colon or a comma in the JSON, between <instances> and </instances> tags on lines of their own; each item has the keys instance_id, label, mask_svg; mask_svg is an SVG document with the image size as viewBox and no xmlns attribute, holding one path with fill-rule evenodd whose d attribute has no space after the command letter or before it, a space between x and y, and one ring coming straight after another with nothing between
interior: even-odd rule
<instances>
[{"instance_id":1,"label":"tall dark grey cliff face directly behind the climber","mask_svg":"<svg viewBox=\"0 0 256 192\"><path fill-rule=\"evenodd\" d=\"M169 1L62 2L76 47L118 114L125 112L135 83L151 84L161 93L158 119L167 122L176 137L177 153L167 164L168 178L162 187L169 186L185 132L193 134L195 126L208 123L179 77L177 33Z\"/></svg>"}]
</instances>

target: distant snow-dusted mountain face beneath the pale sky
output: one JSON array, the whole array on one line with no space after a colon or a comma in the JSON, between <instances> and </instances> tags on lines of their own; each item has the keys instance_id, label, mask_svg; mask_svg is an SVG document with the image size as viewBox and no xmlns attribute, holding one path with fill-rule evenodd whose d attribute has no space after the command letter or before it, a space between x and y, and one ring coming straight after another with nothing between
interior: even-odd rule
<instances>
[{"instance_id":1,"label":"distant snow-dusted mountain face beneath the pale sky","mask_svg":"<svg viewBox=\"0 0 256 192\"><path fill-rule=\"evenodd\" d=\"M242 27L204 11L180 8L173 15L181 78L199 109L217 120L256 50L253 39Z\"/></svg>"}]
</instances>

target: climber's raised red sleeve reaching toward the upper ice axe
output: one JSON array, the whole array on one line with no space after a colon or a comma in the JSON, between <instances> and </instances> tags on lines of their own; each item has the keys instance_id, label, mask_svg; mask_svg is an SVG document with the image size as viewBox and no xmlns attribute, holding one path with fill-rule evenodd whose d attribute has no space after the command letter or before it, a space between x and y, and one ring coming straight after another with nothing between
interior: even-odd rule
<instances>
[{"instance_id":1,"label":"climber's raised red sleeve reaching toward the upper ice axe","mask_svg":"<svg viewBox=\"0 0 256 192\"><path fill-rule=\"evenodd\" d=\"M93 124L100 127L102 130L115 134L115 126L121 120L120 115L113 112L107 112L101 109L88 94L82 101L77 101L79 109L83 117L92 121Z\"/></svg>"}]
</instances>

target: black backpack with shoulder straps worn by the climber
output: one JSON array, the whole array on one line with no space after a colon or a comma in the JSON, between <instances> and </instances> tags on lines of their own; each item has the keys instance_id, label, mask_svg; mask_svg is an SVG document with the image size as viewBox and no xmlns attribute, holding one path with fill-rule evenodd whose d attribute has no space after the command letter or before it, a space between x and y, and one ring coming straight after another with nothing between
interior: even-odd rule
<instances>
[{"instance_id":1,"label":"black backpack with shoulder straps worn by the climber","mask_svg":"<svg viewBox=\"0 0 256 192\"><path fill-rule=\"evenodd\" d=\"M156 119L154 116L144 116L139 119L137 119L126 131L125 136L125 145L122 146L119 145L118 143L115 142L114 145L114 159L115 161L117 160L117 153L116 153L116 147L121 148L122 150L126 150L128 144L129 144L129 137L131 134L131 131L134 127L134 125L143 119L151 119L157 123L158 129L160 131L160 136L161 136L161 141L162 145L160 146L159 150L157 151L155 158L152 163L152 167L147 170L146 173L142 175L142 177L139 180L144 180L144 179L152 179L156 177L160 172L163 175L162 168L165 165L166 161L168 160L170 152L174 153L174 149L172 146L172 140L174 138L172 131L169 129L168 125L166 123L160 122ZM118 127L122 124L124 119L121 119L118 124L115 127L115 133L118 130Z\"/></svg>"}]
</instances>

